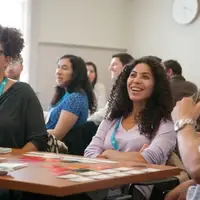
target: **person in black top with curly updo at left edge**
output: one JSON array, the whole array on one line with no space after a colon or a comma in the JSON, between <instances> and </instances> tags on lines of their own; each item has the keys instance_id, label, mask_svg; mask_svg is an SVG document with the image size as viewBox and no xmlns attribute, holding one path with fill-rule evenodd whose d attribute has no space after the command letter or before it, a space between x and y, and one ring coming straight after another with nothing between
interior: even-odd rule
<instances>
[{"instance_id":1,"label":"person in black top with curly updo at left edge","mask_svg":"<svg viewBox=\"0 0 200 200\"><path fill-rule=\"evenodd\" d=\"M0 147L46 150L47 132L38 98L27 83L5 77L20 58L24 39L15 28L0 26Z\"/></svg>"}]
</instances>

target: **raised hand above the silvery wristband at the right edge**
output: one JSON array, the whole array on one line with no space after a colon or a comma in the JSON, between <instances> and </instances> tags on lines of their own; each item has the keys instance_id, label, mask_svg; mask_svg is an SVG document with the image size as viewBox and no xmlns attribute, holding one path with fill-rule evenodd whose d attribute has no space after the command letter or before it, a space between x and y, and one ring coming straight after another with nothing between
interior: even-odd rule
<instances>
[{"instance_id":1,"label":"raised hand above the silvery wristband at the right edge","mask_svg":"<svg viewBox=\"0 0 200 200\"><path fill-rule=\"evenodd\" d=\"M200 102L195 104L191 97L183 98L177 102L172 111L172 119L175 122L181 119L197 120L200 115Z\"/></svg>"}]
</instances>

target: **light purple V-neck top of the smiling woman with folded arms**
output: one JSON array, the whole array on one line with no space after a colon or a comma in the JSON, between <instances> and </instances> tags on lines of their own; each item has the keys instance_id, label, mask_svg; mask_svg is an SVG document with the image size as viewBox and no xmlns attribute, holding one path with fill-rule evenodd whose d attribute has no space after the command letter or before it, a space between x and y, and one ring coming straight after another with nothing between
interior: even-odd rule
<instances>
[{"instance_id":1,"label":"light purple V-neck top of the smiling woman with folded arms","mask_svg":"<svg viewBox=\"0 0 200 200\"><path fill-rule=\"evenodd\" d=\"M85 150L85 157L95 158L106 149L114 149L111 144L111 135L115 124L116 120L102 121L96 135ZM162 122L160 124L156 136L152 141L139 133L138 126L126 131L121 123L115 138L118 142L119 151L122 152L139 152L144 144L148 144L149 147L142 152L142 156L151 164L165 164L176 146L176 133L171 121ZM137 188L149 199L152 187L137 186Z\"/></svg>"}]
</instances>

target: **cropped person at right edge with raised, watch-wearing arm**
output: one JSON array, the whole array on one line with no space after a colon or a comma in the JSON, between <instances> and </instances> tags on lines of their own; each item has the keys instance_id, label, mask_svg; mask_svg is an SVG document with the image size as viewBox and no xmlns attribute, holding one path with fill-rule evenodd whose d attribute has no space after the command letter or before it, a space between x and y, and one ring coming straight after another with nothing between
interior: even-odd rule
<instances>
[{"instance_id":1,"label":"cropped person at right edge with raised, watch-wearing arm","mask_svg":"<svg viewBox=\"0 0 200 200\"><path fill-rule=\"evenodd\" d=\"M168 193L165 200L200 199L200 140L195 130L195 122L199 116L200 103L195 104L192 98L183 98L172 112L179 152L192 179Z\"/></svg>"}]
</instances>

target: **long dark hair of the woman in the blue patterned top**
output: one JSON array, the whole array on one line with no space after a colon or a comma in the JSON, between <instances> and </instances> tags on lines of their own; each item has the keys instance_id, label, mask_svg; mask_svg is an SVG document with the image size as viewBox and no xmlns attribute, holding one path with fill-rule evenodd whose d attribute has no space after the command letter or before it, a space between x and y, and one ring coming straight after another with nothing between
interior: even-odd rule
<instances>
[{"instance_id":1,"label":"long dark hair of the woman in the blue patterned top","mask_svg":"<svg viewBox=\"0 0 200 200\"><path fill-rule=\"evenodd\" d=\"M72 80L67 85L67 91L72 92L85 92L88 97L89 110L91 113L96 111L96 98L92 90L91 83L87 76L86 64L81 57L75 55L64 55L59 60L69 59L72 68ZM59 61L58 60L58 61ZM60 86L56 86L55 94L51 100L51 106L55 105L65 94L65 89Z\"/></svg>"}]
</instances>

